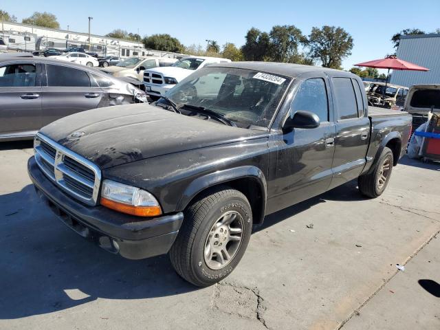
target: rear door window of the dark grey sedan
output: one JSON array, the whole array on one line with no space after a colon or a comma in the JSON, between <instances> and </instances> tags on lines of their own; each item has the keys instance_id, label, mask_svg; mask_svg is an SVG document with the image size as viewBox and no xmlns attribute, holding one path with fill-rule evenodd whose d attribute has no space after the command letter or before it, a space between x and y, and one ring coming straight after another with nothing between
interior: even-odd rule
<instances>
[{"instance_id":1,"label":"rear door window of the dark grey sedan","mask_svg":"<svg viewBox=\"0 0 440 330\"><path fill-rule=\"evenodd\" d=\"M62 65L46 65L46 68L49 87L90 87L90 78L85 71Z\"/></svg>"}]
</instances>

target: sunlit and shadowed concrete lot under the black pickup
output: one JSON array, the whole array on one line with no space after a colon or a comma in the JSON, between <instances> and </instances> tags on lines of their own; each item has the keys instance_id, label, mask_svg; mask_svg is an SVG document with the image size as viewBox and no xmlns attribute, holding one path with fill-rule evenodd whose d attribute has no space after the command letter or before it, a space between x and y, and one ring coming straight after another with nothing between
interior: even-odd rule
<instances>
[{"instance_id":1,"label":"sunlit and shadowed concrete lot under the black pickup","mask_svg":"<svg viewBox=\"0 0 440 330\"><path fill-rule=\"evenodd\" d=\"M66 228L30 185L31 146L0 146L0 329L440 329L439 163L402 159L378 199L350 182L273 214L199 289L166 256L125 260Z\"/></svg>"}]
</instances>

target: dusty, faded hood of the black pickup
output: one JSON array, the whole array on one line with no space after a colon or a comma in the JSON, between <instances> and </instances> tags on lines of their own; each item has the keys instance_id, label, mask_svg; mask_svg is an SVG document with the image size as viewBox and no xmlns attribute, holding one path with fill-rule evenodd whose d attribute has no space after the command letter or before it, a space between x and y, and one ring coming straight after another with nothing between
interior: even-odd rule
<instances>
[{"instance_id":1,"label":"dusty, faded hood of the black pickup","mask_svg":"<svg viewBox=\"0 0 440 330\"><path fill-rule=\"evenodd\" d=\"M150 104L126 104L76 113L52 122L40 133L102 169L267 135L267 131L217 124Z\"/></svg>"}]
</instances>

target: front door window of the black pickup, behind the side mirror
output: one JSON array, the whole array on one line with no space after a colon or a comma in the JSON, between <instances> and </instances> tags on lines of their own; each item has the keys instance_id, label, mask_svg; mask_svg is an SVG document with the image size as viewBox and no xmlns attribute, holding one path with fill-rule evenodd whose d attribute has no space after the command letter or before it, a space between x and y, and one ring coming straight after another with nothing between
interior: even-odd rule
<instances>
[{"instance_id":1,"label":"front door window of the black pickup, behind the side mirror","mask_svg":"<svg viewBox=\"0 0 440 330\"><path fill-rule=\"evenodd\" d=\"M291 111L306 110L316 113L321 122L329 121L329 100L322 78L311 78L301 83L292 102Z\"/></svg>"}]
</instances>

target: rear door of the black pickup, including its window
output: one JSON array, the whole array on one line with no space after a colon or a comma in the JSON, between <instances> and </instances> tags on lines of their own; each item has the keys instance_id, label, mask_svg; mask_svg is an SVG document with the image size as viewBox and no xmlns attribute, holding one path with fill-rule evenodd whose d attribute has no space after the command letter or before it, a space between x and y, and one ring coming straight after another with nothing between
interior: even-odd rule
<instances>
[{"instance_id":1,"label":"rear door of the black pickup, including its window","mask_svg":"<svg viewBox=\"0 0 440 330\"><path fill-rule=\"evenodd\" d=\"M350 76L331 77L336 109L336 140L331 188L358 177L366 162L370 120L358 80Z\"/></svg>"}]
</instances>

